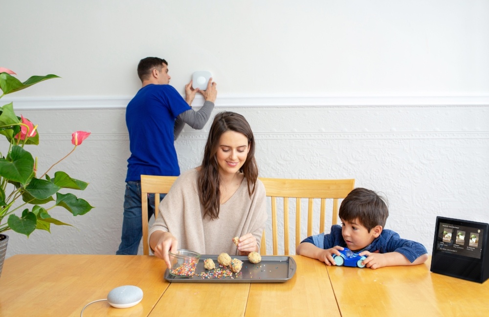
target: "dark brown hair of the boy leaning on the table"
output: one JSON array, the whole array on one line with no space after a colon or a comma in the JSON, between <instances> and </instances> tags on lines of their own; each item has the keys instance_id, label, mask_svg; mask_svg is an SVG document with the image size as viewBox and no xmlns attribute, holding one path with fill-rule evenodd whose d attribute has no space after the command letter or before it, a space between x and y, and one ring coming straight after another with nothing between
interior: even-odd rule
<instances>
[{"instance_id":1,"label":"dark brown hair of the boy leaning on the table","mask_svg":"<svg viewBox=\"0 0 489 317\"><path fill-rule=\"evenodd\" d=\"M375 226L384 228L388 216L389 210L383 197L365 188L350 191L339 207L339 217L343 221L352 222L357 219L368 232Z\"/></svg>"}]
</instances>

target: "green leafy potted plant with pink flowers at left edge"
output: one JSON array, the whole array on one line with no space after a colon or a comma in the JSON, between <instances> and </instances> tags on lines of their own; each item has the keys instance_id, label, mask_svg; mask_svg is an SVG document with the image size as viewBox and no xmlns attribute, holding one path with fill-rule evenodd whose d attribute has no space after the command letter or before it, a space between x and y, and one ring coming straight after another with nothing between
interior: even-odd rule
<instances>
[{"instance_id":1,"label":"green leafy potted plant with pink flowers at left edge","mask_svg":"<svg viewBox=\"0 0 489 317\"><path fill-rule=\"evenodd\" d=\"M32 76L20 82L13 71L0 67L0 89L2 94L10 94L56 75ZM36 229L50 232L50 226L67 225L51 217L54 207L63 207L73 216L89 212L93 207L72 193L61 193L62 189L85 190L88 183L71 178L64 171L48 172L82 144L90 133L76 131L72 134L74 148L65 157L54 163L46 172L37 175L38 158L32 157L28 146L39 145L37 126L18 117L13 103L0 106L0 134L8 142L6 148L0 148L0 275L6 253L8 236L4 232L13 230L29 237ZM47 206L45 206L47 205Z\"/></svg>"}]
</instances>

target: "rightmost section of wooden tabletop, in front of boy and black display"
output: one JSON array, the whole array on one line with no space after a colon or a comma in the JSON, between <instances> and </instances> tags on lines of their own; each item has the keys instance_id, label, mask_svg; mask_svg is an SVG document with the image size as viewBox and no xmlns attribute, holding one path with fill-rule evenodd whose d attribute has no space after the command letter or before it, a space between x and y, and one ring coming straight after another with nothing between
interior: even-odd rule
<instances>
[{"instance_id":1,"label":"rightmost section of wooden tabletop, in front of boy and black display","mask_svg":"<svg viewBox=\"0 0 489 317\"><path fill-rule=\"evenodd\" d=\"M420 265L376 270L328 266L342 317L488 317L489 281L471 282Z\"/></svg>"}]
</instances>

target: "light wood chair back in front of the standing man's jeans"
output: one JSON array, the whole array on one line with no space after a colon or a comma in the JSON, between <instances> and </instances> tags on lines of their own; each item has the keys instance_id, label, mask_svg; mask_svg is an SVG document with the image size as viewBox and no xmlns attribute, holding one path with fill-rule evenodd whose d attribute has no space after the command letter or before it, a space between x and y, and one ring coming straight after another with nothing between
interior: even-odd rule
<instances>
[{"instance_id":1,"label":"light wood chair back in front of the standing man's jeans","mask_svg":"<svg viewBox=\"0 0 489 317\"><path fill-rule=\"evenodd\" d=\"M158 216L159 194L166 194L177 176L141 175L141 215L143 221L143 254L149 255L148 194L155 194L155 219Z\"/></svg>"}]
</instances>

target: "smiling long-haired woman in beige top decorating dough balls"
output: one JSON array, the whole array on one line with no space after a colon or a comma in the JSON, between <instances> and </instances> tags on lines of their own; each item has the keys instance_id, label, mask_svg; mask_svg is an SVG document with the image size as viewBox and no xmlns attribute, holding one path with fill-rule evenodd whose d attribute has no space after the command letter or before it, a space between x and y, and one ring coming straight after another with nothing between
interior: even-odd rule
<instances>
[{"instance_id":1,"label":"smiling long-haired woman in beige top decorating dough balls","mask_svg":"<svg viewBox=\"0 0 489 317\"><path fill-rule=\"evenodd\" d=\"M235 112L218 113L202 165L178 177L149 231L151 249L168 267L168 252L177 248L200 254L259 251L267 211L254 154L246 119ZM238 246L232 242L235 236Z\"/></svg>"}]
</instances>

